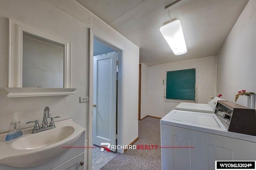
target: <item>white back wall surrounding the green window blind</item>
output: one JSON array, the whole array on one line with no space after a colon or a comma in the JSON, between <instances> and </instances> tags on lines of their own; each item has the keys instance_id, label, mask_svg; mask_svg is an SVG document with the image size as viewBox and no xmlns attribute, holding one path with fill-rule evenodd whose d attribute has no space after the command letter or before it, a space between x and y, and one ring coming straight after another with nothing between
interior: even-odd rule
<instances>
[{"instance_id":1,"label":"white back wall surrounding the green window blind","mask_svg":"<svg viewBox=\"0 0 256 170\"><path fill-rule=\"evenodd\" d=\"M216 56L149 66L148 115L164 117L179 104L164 101L162 81L166 79L166 71L192 68L196 68L198 103L208 103L209 96L216 95Z\"/></svg>"}]
</instances>

